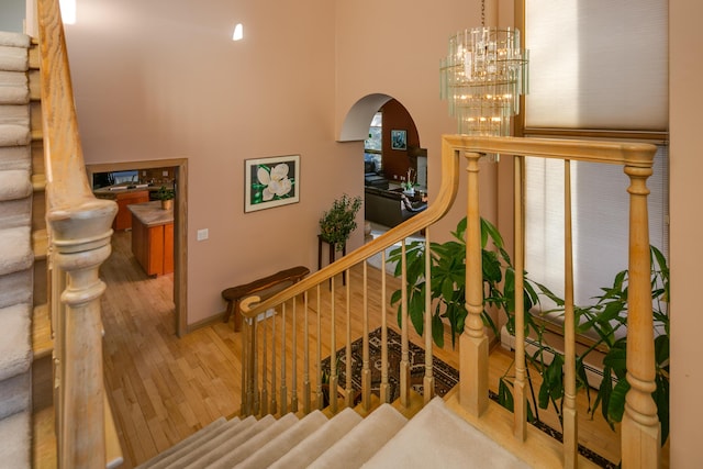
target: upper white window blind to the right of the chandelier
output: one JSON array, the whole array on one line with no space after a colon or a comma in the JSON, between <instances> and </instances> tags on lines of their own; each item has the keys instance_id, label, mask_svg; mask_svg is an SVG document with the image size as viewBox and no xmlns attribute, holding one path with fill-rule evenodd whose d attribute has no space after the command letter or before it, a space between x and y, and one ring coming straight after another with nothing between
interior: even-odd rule
<instances>
[{"instance_id":1,"label":"upper white window blind to the right of the chandelier","mask_svg":"<svg viewBox=\"0 0 703 469\"><path fill-rule=\"evenodd\" d=\"M666 131L667 0L526 0L527 127Z\"/></svg>"}]
</instances>

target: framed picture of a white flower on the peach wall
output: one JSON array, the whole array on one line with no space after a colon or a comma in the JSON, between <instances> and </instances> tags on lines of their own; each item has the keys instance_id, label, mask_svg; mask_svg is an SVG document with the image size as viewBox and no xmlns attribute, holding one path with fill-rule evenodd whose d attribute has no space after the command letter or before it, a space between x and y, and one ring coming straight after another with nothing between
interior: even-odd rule
<instances>
[{"instance_id":1,"label":"framed picture of a white flower on the peach wall","mask_svg":"<svg viewBox=\"0 0 703 469\"><path fill-rule=\"evenodd\" d=\"M244 212L300 201L300 155L244 160Z\"/></svg>"}]
</instances>

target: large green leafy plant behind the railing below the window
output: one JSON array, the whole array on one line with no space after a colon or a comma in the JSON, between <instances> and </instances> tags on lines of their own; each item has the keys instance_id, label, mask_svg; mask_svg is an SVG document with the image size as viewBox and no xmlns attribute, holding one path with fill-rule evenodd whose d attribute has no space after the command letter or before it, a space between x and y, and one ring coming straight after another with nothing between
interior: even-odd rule
<instances>
[{"instance_id":1,"label":"large green leafy plant behind the railing below the window","mask_svg":"<svg viewBox=\"0 0 703 469\"><path fill-rule=\"evenodd\" d=\"M449 324L451 344L464 331L464 322L467 316L465 308L466 291L466 219L461 220L457 230L453 232L453 241L446 243L431 243L432 256L432 298L433 311L432 335L435 344L444 346L444 323ZM489 241L491 246L489 246ZM510 256L503 248L503 241L499 231L490 222L481 219L481 258L483 277L483 304L482 319L484 325L498 334L498 326L489 309L502 311L506 315L506 328L511 334L515 332L514 293L515 271ZM424 308L425 308L425 244L423 242L410 243L406 247L406 279L408 279L408 313L410 321L419 334L423 334ZM651 252L651 298L654 309L656 355L656 390L652 398L657 404L659 421L661 422L661 443L666 443L669 434L669 269L662 253L656 247ZM397 263L395 275L401 272L402 250L393 249L389 261ZM584 389L588 395L591 415L601 412L605 421L614 428L616 422L621 422L625 405L625 394L629 386L626 375L626 344L627 336L617 337L615 334L627 323L627 270L615 276L613 284L602 289L603 294L595 297L593 304L576 306L576 323L579 324L577 333L589 330L595 332L598 339L588 349L576 356L577 387ZM543 314L563 311L563 300L553 293L547 287L529 280L524 281L524 311L539 305L539 295L549 298L556 308L545 311ZM392 304L399 304L401 291L397 290L391 297ZM401 306L398 306L399 323L401 321ZM563 354L551 347L545 339L545 323L534 320L532 314L525 314L525 335L531 334L536 345L536 351L525 355L525 360L542 376L542 384L535 393L533 380L528 376L529 387L533 390L532 406L528 406L528 418L539 420L538 409L551 406L561 418L561 405L563 402ZM591 389L588 386L584 359L596 348L605 348L603 360L605 377L596 390L595 399L591 405ZM512 367L511 367L512 368ZM529 370L529 367L527 367ZM505 371L499 382L499 403L507 409L513 409L512 383L513 377Z\"/></svg>"}]
</instances>

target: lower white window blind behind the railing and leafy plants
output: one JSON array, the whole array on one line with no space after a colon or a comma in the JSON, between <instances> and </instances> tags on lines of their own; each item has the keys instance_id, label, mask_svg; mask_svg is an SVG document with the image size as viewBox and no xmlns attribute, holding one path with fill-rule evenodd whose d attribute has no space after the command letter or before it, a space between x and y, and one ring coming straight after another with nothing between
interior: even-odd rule
<instances>
[{"instance_id":1,"label":"lower white window blind behind the railing and leafy plants","mask_svg":"<svg viewBox=\"0 0 703 469\"><path fill-rule=\"evenodd\" d=\"M573 280L577 304L590 304L627 268L629 179L621 166L571 164ZM667 255L668 148L660 146L647 181L649 244ZM525 267L563 298L563 163L526 158Z\"/></svg>"}]
</instances>

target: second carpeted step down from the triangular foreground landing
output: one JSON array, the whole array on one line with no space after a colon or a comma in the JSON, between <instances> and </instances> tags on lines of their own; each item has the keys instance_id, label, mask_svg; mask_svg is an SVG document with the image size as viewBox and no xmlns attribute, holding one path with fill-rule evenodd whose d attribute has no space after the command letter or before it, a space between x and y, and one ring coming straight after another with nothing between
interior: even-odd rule
<instances>
[{"instance_id":1,"label":"second carpeted step down from the triangular foreground landing","mask_svg":"<svg viewBox=\"0 0 703 469\"><path fill-rule=\"evenodd\" d=\"M344 409L269 467L279 469L306 468L327 448L358 425L361 420L361 416L353 409Z\"/></svg>"}]
</instances>

